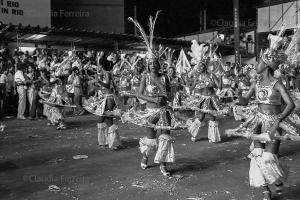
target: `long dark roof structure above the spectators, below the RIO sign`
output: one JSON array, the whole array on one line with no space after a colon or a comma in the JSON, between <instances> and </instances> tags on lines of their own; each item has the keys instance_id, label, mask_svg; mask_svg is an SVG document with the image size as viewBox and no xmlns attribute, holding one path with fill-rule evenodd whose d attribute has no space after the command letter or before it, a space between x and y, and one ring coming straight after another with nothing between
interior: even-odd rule
<instances>
[{"instance_id":1,"label":"long dark roof structure above the spectators, below the RIO sign","mask_svg":"<svg viewBox=\"0 0 300 200\"><path fill-rule=\"evenodd\" d=\"M90 49L145 50L139 36L131 34L104 33L93 30L65 28L31 27L12 24L0 25L0 40L4 42L22 42L45 44L49 46L70 46L70 44ZM154 42L173 49L190 49L191 42L179 39L155 37ZM232 54L232 47L219 46L222 55Z\"/></svg>"}]
</instances>

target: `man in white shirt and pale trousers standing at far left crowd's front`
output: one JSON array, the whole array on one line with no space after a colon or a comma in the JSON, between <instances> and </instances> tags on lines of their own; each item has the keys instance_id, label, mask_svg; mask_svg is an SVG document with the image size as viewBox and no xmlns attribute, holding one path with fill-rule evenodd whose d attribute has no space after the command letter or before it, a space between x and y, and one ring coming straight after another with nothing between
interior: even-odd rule
<instances>
[{"instance_id":1,"label":"man in white shirt and pale trousers standing at far left crowd's front","mask_svg":"<svg viewBox=\"0 0 300 200\"><path fill-rule=\"evenodd\" d=\"M15 73L15 83L17 85L17 92L19 95L19 104L18 104L18 115L17 119L26 119L24 117L25 108L26 108L26 79L22 71L22 65L17 66L17 71Z\"/></svg>"}]
</instances>

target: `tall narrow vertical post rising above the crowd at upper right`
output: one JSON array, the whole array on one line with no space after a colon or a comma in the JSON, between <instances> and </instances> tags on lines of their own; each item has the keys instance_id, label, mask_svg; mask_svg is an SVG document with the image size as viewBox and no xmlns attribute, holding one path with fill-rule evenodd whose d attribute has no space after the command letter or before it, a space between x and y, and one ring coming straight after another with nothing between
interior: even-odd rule
<instances>
[{"instance_id":1,"label":"tall narrow vertical post rising above the crowd at upper right","mask_svg":"<svg viewBox=\"0 0 300 200\"><path fill-rule=\"evenodd\" d=\"M235 52L234 60L235 63L241 63L239 0L233 0L233 19L234 19L234 52Z\"/></svg>"}]
</instances>

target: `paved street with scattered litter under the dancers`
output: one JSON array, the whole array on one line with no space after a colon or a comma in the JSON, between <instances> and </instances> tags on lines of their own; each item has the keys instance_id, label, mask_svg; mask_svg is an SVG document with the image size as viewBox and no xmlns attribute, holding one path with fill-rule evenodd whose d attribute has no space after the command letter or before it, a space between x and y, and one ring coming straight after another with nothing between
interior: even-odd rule
<instances>
[{"instance_id":1,"label":"paved street with scattered litter under the dancers","mask_svg":"<svg viewBox=\"0 0 300 200\"><path fill-rule=\"evenodd\" d=\"M187 131L176 131L176 163L172 178L159 168L140 168L138 139L145 129L120 124L124 149L97 146L97 118L68 118L69 129L57 131L46 121L6 120L0 135L0 199L3 200L259 200L260 190L248 183L250 141L223 138L207 141L207 127L196 143ZM236 127L221 121L221 133ZM76 155L88 158L73 159ZM284 142L280 160L290 174L284 198L300 199L300 143ZM153 161L153 158L150 160ZM54 185L54 186L51 186ZM50 186L50 188L49 188Z\"/></svg>"}]
</instances>

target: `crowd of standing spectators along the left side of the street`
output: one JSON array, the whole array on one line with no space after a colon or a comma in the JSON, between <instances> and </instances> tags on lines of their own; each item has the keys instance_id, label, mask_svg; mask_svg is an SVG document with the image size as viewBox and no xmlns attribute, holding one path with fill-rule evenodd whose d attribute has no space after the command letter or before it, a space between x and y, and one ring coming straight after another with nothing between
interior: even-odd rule
<instances>
[{"instance_id":1,"label":"crowd of standing spectators along the left side of the street","mask_svg":"<svg viewBox=\"0 0 300 200\"><path fill-rule=\"evenodd\" d=\"M38 93L42 87L49 84L50 74L62 65L67 69L67 73L63 75L68 93L77 106L74 114L83 114L81 100L88 92L87 77L93 76L97 71L97 52L76 52L71 60L69 53L45 49L31 53L2 49L0 51L0 117L42 119L43 106L39 102Z\"/></svg>"}]
</instances>

